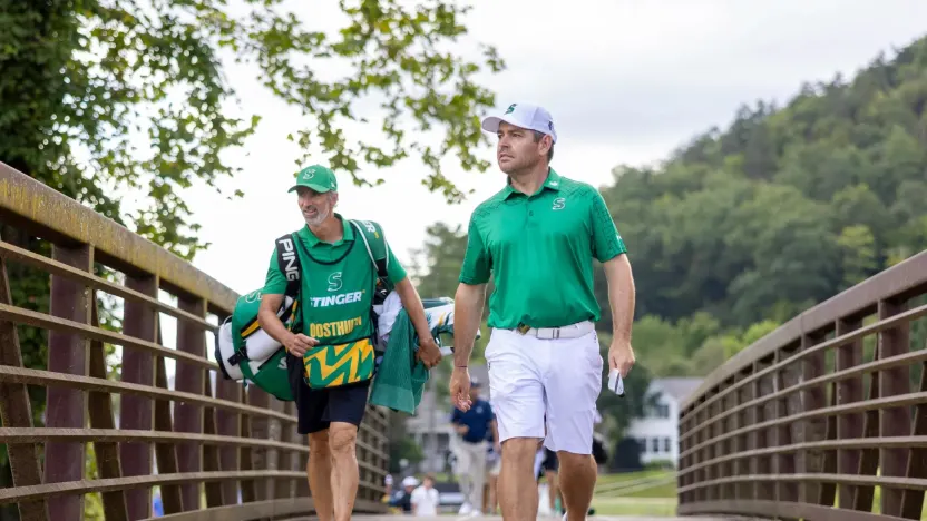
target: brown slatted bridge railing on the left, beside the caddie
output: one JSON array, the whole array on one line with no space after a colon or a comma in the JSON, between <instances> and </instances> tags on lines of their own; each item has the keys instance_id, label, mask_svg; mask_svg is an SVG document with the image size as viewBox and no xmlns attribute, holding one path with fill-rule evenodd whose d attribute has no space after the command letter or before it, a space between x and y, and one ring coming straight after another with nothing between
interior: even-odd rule
<instances>
[{"instance_id":1,"label":"brown slatted bridge railing on the left, beside the caddie","mask_svg":"<svg viewBox=\"0 0 927 521\"><path fill-rule=\"evenodd\" d=\"M293 404L223 380L207 355L237 294L2 163L0 233L0 443L12 481L0 508L76 521L98 498L106 521L138 520L153 515L157 486L167 519L312 512ZM176 325L175 347L163 324ZM23 344L47 352L45 368L23 364L36 356ZM384 510L386 432L371 407L360 512Z\"/></svg>"}]
</instances>

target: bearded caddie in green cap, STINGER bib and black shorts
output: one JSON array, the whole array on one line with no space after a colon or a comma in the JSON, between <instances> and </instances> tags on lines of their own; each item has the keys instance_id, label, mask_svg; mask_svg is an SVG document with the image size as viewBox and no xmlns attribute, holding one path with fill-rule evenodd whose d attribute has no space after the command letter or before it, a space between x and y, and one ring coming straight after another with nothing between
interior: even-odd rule
<instances>
[{"instance_id":1,"label":"bearded caddie in green cap, STINGER bib and black shorts","mask_svg":"<svg viewBox=\"0 0 927 521\"><path fill-rule=\"evenodd\" d=\"M302 333L290 332L276 316L287 283L287 276L280 269L276 249L271 256L257 320L290 354L287 372L299 414L299 432L309 435L306 472L316 514L321 521L344 521L351 519L358 492L355 443L367 409L370 380L310 389L303 380L304 360L313 360L315 346L369 347L365 343L374 332L371 306L377 272L362 237L358 237L361 232L334 213L338 181L329 168L321 165L304 168L290 191L297 194L305 220L295 244L302 265ZM418 292L392 249L387 249L388 278L394 284L394 292L420 338L417 356L431 368L441 360L440 348L431 336Z\"/></svg>"}]
</instances>

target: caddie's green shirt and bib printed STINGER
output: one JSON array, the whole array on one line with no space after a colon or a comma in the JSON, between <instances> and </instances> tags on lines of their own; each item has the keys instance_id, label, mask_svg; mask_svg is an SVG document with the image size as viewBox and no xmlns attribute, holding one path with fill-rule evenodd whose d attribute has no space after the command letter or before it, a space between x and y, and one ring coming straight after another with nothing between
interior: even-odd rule
<instances>
[{"instance_id":1,"label":"caddie's green shirt and bib printed STINGER","mask_svg":"<svg viewBox=\"0 0 927 521\"><path fill-rule=\"evenodd\" d=\"M323 344L353 342L370 336L370 307L375 285L375 272L363 242L355 240L357 232L341 215L344 233L340 240L320 240L309 226L296 233L302 248L296 253L302 264L303 333ZM360 243L360 244L358 244ZM309 256L306 256L309 254ZM406 269L389 249L387 277L393 284L406 278ZM263 293L283 294L286 277L280 271L276 249L271 254Z\"/></svg>"}]
</instances>

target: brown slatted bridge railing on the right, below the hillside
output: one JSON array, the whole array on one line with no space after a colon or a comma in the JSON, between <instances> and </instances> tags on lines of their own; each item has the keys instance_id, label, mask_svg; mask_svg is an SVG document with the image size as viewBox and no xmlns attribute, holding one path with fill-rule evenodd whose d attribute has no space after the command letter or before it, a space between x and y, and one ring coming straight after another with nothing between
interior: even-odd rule
<instances>
[{"instance_id":1,"label":"brown slatted bridge railing on the right, below the hillside","mask_svg":"<svg viewBox=\"0 0 927 521\"><path fill-rule=\"evenodd\" d=\"M680 417L679 513L921 519L927 252L712 373Z\"/></svg>"}]
</instances>

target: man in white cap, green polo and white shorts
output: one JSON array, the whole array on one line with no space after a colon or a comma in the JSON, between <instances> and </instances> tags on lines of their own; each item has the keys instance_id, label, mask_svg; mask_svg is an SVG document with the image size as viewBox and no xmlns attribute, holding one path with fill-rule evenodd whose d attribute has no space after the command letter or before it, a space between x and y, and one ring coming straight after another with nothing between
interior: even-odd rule
<instances>
[{"instance_id":1,"label":"man in white cap, green polo and white shorts","mask_svg":"<svg viewBox=\"0 0 927 521\"><path fill-rule=\"evenodd\" d=\"M634 364L631 264L598 190L549 167L557 134L547 110L513 104L482 128L498 136L497 159L508 180L470 217L455 298L450 395L459 409L470 406L467 363L494 275L486 362L502 443L502 518L536 519L533 462L544 440L559 460L564 519L583 520L596 481L591 454L603 376L593 259L603 263L608 281L608 365L622 376Z\"/></svg>"}]
</instances>

